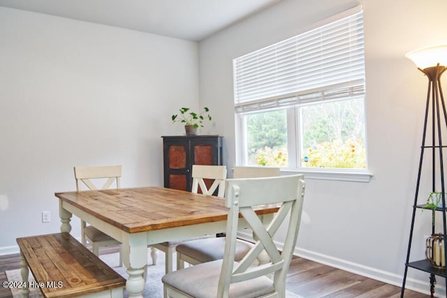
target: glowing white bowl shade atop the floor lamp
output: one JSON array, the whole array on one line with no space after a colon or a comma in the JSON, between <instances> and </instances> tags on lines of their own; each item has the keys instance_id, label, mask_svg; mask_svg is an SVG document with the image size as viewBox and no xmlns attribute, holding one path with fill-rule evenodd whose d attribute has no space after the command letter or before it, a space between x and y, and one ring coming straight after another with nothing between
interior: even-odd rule
<instances>
[{"instance_id":1,"label":"glowing white bowl shade atop the floor lamp","mask_svg":"<svg viewBox=\"0 0 447 298\"><path fill-rule=\"evenodd\" d=\"M447 66L447 45L413 50L406 53L405 57L413 61L420 69L437 66L437 64Z\"/></svg>"}]
</instances>

